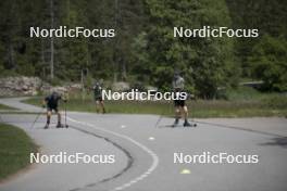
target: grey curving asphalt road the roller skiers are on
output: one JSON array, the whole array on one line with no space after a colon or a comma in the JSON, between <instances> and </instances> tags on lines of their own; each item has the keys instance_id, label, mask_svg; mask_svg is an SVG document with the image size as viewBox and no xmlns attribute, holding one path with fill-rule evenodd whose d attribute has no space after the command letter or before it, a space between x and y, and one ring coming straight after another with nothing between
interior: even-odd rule
<instances>
[{"instance_id":1,"label":"grey curving asphalt road the roller skiers are on","mask_svg":"<svg viewBox=\"0 0 287 191\"><path fill-rule=\"evenodd\" d=\"M0 103L36 112L38 107ZM287 119L196 119L197 128L170 128L159 116L68 112L68 129L42 129L45 116L5 114L3 122L26 130L42 154L113 154L114 164L37 164L0 184L1 191L286 191ZM53 116L55 122L55 116ZM184 155L258 155L257 164L174 164Z\"/></svg>"}]
</instances>

